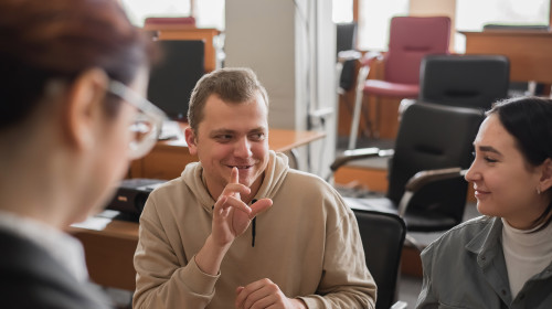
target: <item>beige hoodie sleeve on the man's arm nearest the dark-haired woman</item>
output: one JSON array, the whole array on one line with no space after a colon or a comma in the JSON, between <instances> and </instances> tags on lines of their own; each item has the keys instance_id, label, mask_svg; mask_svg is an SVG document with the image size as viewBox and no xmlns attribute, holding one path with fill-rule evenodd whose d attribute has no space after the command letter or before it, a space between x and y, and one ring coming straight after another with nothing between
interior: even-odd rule
<instances>
[{"instance_id":1,"label":"beige hoodie sleeve on the man's arm nearest the dark-haired woman","mask_svg":"<svg viewBox=\"0 0 552 309\"><path fill-rule=\"evenodd\" d=\"M365 266L357 220L350 209L340 206L344 214L328 232L317 295L300 299L308 308L375 308L376 287Z\"/></svg>"}]
</instances>

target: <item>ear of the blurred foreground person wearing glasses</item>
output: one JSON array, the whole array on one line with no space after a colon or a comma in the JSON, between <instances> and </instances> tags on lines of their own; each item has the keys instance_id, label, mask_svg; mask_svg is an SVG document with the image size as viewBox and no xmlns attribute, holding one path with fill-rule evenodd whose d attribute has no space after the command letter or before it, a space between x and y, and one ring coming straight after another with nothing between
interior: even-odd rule
<instances>
[{"instance_id":1,"label":"ear of the blurred foreground person wearing glasses","mask_svg":"<svg viewBox=\"0 0 552 309\"><path fill-rule=\"evenodd\" d=\"M79 149L94 147L96 125L104 117L102 103L109 77L100 68L88 70L73 82L62 118L68 141Z\"/></svg>"}]
</instances>

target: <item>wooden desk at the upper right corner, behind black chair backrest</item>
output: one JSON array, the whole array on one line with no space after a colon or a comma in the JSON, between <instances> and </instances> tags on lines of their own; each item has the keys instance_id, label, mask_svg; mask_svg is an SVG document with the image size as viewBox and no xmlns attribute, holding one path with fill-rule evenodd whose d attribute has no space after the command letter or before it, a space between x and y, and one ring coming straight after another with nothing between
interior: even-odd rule
<instances>
[{"instance_id":1,"label":"wooden desk at the upper right corner, behind black chair backrest","mask_svg":"<svg viewBox=\"0 0 552 309\"><path fill-rule=\"evenodd\" d=\"M510 79L552 84L552 32L465 32L466 54L501 54L510 60Z\"/></svg>"}]
</instances>

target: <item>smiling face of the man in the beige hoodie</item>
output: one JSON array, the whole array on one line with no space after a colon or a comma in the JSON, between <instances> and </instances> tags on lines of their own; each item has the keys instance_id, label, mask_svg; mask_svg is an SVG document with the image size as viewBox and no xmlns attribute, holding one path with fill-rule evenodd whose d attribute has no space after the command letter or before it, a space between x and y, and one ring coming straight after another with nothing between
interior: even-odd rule
<instances>
[{"instance_id":1,"label":"smiling face of the man in the beige hoodie","mask_svg":"<svg viewBox=\"0 0 552 309\"><path fill-rule=\"evenodd\" d=\"M194 134L187 129L191 154L198 154L208 189L217 199L229 183L232 168L240 183L255 194L268 164L268 110L261 94L251 102L232 104L217 95L208 97L203 120Z\"/></svg>"}]
</instances>

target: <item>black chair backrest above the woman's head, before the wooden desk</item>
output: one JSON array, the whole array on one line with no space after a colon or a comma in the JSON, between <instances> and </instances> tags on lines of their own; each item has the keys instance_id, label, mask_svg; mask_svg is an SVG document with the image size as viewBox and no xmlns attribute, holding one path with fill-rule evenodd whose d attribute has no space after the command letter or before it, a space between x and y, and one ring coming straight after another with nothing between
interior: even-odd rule
<instances>
[{"instance_id":1,"label":"black chair backrest above the woman's head, before the wooden desk","mask_svg":"<svg viewBox=\"0 0 552 309\"><path fill-rule=\"evenodd\" d=\"M422 102L487 110L507 97L510 64L502 55L428 55L420 79Z\"/></svg>"}]
</instances>

